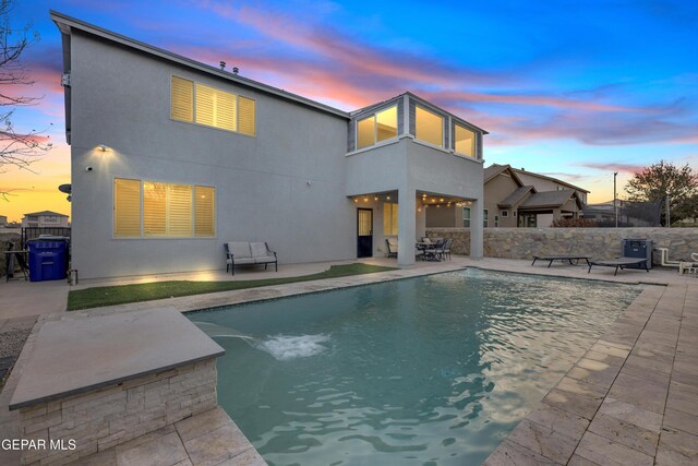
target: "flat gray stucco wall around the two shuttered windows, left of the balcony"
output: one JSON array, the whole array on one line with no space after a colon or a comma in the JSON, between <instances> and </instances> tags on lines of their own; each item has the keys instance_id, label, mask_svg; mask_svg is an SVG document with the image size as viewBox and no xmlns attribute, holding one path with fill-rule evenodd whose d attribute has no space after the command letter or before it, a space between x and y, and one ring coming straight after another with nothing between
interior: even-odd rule
<instances>
[{"instance_id":1,"label":"flat gray stucco wall around the two shuttered windows, left of the balcony","mask_svg":"<svg viewBox=\"0 0 698 466\"><path fill-rule=\"evenodd\" d=\"M79 31L71 56L73 268L81 278L224 268L222 244L233 240L267 241L280 263L356 258L346 119ZM171 74L255 99L256 136L171 120ZM115 177L215 187L216 237L113 238Z\"/></svg>"}]
</instances>

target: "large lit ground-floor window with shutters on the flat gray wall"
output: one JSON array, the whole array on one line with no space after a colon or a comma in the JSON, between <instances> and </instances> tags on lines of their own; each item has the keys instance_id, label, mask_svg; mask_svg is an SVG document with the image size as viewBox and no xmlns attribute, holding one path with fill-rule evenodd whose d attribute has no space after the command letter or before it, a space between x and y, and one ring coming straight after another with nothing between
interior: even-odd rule
<instances>
[{"instance_id":1,"label":"large lit ground-floor window with shutters on the flat gray wall","mask_svg":"<svg viewBox=\"0 0 698 466\"><path fill-rule=\"evenodd\" d=\"M216 235L213 187L115 178L115 238Z\"/></svg>"}]
</instances>

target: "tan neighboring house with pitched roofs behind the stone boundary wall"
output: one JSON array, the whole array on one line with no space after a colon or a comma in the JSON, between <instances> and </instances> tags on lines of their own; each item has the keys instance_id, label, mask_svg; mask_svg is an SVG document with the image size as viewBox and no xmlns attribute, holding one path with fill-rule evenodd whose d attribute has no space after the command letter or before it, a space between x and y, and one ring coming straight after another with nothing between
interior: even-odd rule
<instances>
[{"instance_id":1,"label":"tan neighboring house with pitched roofs behind the stone boundary wall","mask_svg":"<svg viewBox=\"0 0 698 466\"><path fill-rule=\"evenodd\" d=\"M530 182L527 184L524 176ZM508 165L491 165L484 169L484 212L482 223L488 227L549 227L561 218L578 218L589 191L579 187ZM553 188L546 190L547 188ZM441 200L428 207L428 227L472 227L474 210L471 205L444 203Z\"/></svg>"}]
</instances>

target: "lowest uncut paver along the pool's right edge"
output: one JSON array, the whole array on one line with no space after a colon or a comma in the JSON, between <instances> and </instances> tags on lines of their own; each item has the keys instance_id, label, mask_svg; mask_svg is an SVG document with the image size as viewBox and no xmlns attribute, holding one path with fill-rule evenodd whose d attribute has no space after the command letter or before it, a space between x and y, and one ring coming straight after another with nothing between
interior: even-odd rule
<instances>
[{"instance_id":1,"label":"lowest uncut paver along the pool's right edge","mask_svg":"<svg viewBox=\"0 0 698 466\"><path fill-rule=\"evenodd\" d=\"M567 463L579 443L579 439L567 437L528 419L519 422L508 440L562 464Z\"/></svg>"}]
</instances>

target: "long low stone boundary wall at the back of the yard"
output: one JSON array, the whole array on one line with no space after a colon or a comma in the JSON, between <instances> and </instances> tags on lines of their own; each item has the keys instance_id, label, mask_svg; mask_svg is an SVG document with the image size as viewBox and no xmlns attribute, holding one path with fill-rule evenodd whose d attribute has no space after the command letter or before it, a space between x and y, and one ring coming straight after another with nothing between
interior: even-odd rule
<instances>
[{"instance_id":1,"label":"long low stone boundary wall at the back of the yard","mask_svg":"<svg viewBox=\"0 0 698 466\"><path fill-rule=\"evenodd\" d=\"M454 238L455 254L470 253L469 228L428 228L430 238ZM488 258L531 259L541 254L585 254L610 259L621 254L621 240L651 239L653 248L669 248L672 261L690 260L698 252L698 228L485 228ZM654 263L660 263L654 253Z\"/></svg>"}]
</instances>

